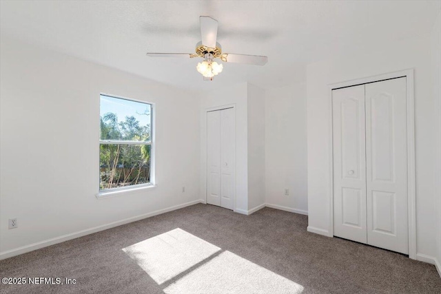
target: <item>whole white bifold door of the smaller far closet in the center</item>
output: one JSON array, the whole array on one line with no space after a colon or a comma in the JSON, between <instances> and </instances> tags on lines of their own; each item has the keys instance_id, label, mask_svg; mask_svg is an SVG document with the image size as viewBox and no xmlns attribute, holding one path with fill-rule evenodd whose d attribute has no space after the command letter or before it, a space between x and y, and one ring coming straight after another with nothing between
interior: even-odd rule
<instances>
[{"instance_id":1,"label":"whole white bifold door of the smaller far closet in the center","mask_svg":"<svg viewBox=\"0 0 441 294\"><path fill-rule=\"evenodd\" d=\"M236 117L234 108L207 112L207 203L234 209Z\"/></svg>"}]
</instances>

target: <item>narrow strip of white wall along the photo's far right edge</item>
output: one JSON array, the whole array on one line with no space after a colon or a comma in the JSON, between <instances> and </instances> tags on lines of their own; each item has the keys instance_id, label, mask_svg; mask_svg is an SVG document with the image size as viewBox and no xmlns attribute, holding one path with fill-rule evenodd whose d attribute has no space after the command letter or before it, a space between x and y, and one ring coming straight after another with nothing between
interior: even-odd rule
<instances>
[{"instance_id":1,"label":"narrow strip of white wall along the photo's far right edge","mask_svg":"<svg viewBox=\"0 0 441 294\"><path fill-rule=\"evenodd\" d=\"M438 273L441 275L441 11L433 25L431 32L431 63L433 74L433 96L435 98L435 125L433 126L438 136L436 138L435 150L435 209L437 209L436 229L438 231Z\"/></svg>"}]
</instances>

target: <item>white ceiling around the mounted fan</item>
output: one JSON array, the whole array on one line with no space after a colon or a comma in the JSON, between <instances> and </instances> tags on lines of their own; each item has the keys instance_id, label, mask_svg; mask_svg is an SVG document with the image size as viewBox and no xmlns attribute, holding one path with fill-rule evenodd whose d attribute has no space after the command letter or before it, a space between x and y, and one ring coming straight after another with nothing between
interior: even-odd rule
<instances>
[{"instance_id":1,"label":"white ceiling around the mounted fan","mask_svg":"<svg viewBox=\"0 0 441 294\"><path fill-rule=\"evenodd\" d=\"M305 80L305 64L426 34L441 1L0 1L1 34L186 89ZM224 64L213 82L193 53L199 16L219 22L223 52L267 55L267 65Z\"/></svg>"}]
</instances>

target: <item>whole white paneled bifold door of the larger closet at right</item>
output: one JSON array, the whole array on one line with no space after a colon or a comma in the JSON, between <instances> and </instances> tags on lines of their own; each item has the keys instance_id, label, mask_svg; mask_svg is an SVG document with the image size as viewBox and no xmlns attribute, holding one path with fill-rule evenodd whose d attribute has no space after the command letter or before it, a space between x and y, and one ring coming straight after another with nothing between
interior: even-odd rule
<instances>
[{"instance_id":1,"label":"whole white paneled bifold door of the larger closet at right","mask_svg":"<svg viewBox=\"0 0 441 294\"><path fill-rule=\"evenodd\" d=\"M406 78L332 91L334 235L409 253Z\"/></svg>"}]
</instances>

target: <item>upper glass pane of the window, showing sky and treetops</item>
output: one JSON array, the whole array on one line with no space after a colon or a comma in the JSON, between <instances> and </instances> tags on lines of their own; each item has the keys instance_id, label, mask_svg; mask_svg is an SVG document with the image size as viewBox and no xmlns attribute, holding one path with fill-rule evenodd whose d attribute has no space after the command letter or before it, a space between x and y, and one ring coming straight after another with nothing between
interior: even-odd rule
<instances>
[{"instance_id":1,"label":"upper glass pane of the window, showing sky and treetops","mask_svg":"<svg viewBox=\"0 0 441 294\"><path fill-rule=\"evenodd\" d=\"M152 105L100 95L100 139L150 142Z\"/></svg>"}]
</instances>

